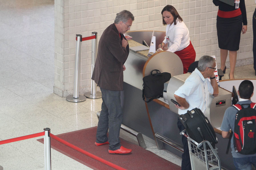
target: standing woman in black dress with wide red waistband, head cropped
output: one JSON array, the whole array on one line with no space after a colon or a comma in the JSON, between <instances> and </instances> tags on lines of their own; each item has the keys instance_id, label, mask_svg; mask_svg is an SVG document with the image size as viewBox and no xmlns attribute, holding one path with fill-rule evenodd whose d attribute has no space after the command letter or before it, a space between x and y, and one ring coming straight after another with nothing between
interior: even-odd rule
<instances>
[{"instance_id":1,"label":"standing woman in black dress with wide red waistband, head cropped","mask_svg":"<svg viewBox=\"0 0 256 170\"><path fill-rule=\"evenodd\" d=\"M226 72L227 52L229 51L229 78L234 79L241 31L244 34L247 30L245 1L235 0L234 6L219 0L213 0L213 3L219 6L216 25L219 48L221 49L221 70L223 73Z\"/></svg>"}]
</instances>

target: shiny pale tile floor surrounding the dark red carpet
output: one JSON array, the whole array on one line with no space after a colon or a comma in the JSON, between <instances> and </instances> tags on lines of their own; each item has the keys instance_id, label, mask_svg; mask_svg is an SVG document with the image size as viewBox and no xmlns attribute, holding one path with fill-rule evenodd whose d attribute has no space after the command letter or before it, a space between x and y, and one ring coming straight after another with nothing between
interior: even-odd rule
<instances>
[{"instance_id":1,"label":"shiny pale tile floor surrounding the dark red carpet","mask_svg":"<svg viewBox=\"0 0 256 170\"><path fill-rule=\"evenodd\" d=\"M0 0L0 29L0 140L45 127L57 135L97 126L101 99L71 103L53 93L54 1ZM120 137L138 143L123 130ZM4 170L44 170L39 138L0 145L0 165ZM147 150L181 165L181 158L144 140ZM52 150L52 169L90 168Z\"/></svg>"}]
</instances>

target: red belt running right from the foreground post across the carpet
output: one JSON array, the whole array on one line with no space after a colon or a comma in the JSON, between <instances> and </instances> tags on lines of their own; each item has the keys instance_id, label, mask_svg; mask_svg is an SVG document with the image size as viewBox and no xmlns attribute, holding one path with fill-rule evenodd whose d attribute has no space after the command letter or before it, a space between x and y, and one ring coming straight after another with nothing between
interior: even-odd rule
<instances>
[{"instance_id":1,"label":"red belt running right from the foreground post across the carpet","mask_svg":"<svg viewBox=\"0 0 256 170\"><path fill-rule=\"evenodd\" d=\"M118 169L118 170L126 170L126 169L124 169L124 168L122 168L122 167L120 167L120 166L118 166L118 165L115 165L114 163L108 162L108 161L106 161L105 159L99 158L99 157L95 156L94 154L91 154L91 153L89 153L89 152L87 152L87 151L85 151L85 150L82 150L82 149L80 149L79 147L77 147L77 146L75 146L75 145L72 145L71 143L68 143L67 141L64 141L63 139L61 139L61 138L59 138L59 137L56 137L55 135L53 135L53 134L51 134L51 133L50 133L50 137L52 137L53 139L55 139L55 140L57 140L57 141L59 141L59 142L65 144L65 145L67 145L67 146L69 146L69 147L71 147L71 148L73 148L73 149L79 151L80 153L83 153L83 154L85 154L85 155L87 155L87 156L89 156L89 157L91 157L91 158L93 158L93 159L96 159L96 160L99 161L99 162L105 163L105 164L108 165L108 166L111 166L111 167L113 167L113 168L115 168L115 169Z\"/></svg>"}]
</instances>

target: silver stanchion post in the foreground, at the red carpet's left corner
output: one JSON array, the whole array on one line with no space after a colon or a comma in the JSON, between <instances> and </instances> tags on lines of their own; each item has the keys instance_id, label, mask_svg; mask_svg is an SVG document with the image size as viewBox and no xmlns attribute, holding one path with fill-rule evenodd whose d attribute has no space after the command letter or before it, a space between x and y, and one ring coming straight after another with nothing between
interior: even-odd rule
<instances>
[{"instance_id":1,"label":"silver stanchion post in the foreground, at the red carpet's left corner","mask_svg":"<svg viewBox=\"0 0 256 170\"><path fill-rule=\"evenodd\" d=\"M51 142L50 128L44 129L44 146L45 146L45 170L51 170Z\"/></svg>"}]
</instances>

